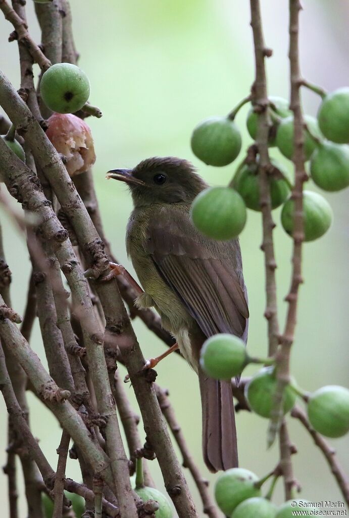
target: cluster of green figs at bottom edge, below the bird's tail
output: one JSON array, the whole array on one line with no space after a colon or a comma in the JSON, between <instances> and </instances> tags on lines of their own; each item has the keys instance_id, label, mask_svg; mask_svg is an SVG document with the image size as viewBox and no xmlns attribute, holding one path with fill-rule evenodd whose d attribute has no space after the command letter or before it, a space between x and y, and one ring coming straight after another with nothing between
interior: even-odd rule
<instances>
[{"instance_id":1,"label":"cluster of green figs at bottom edge, below the bird's tail","mask_svg":"<svg viewBox=\"0 0 349 518\"><path fill-rule=\"evenodd\" d=\"M267 496L262 497L261 487L270 476L259 479L244 468L225 471L215 486L218 507L230 518L292 518L299 510L304 511L302 516L314 515L314 508L304 505L306 500L301 500L302 505L299 500L289 500L277 508L270 502L272 486Z\"/></svg>"}]
</instances>

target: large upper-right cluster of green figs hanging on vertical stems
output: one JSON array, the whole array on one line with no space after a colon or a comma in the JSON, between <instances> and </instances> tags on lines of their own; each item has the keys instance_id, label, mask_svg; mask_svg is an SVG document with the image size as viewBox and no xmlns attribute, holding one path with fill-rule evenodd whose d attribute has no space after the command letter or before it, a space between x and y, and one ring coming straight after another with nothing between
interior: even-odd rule
<instances>
[{"instance_id":1,"label":"large upper-right cluster of green figs hanging on vertical stems","mask_svg":"<svg viewBox=\"0 0 349 518\"><path fill-rule=\"evenodd\" d=\"M207 119L193 131L191 147L203 162L213 166L232 163L241 150L241 135L235 123L241 102L227 117ZM293 114L285 99L270 97L268 146L277 146L289 160L294 154ZM258 115L251 107L247 129L255 139ZM349 88L324 96L317 119L306 115L304 154L310 160L310 176L324 191L339 191L349 185ZM274 172L273 172L274 170ZM203 191L192 205L191 215L196 228L208 237L229 240L237 237L245 226L247 211L261 210L259 160L242 162L227 187ZM293 232L294 202L290 198L292 182L287 169L271 160L271 208L283 205L281 223L287 234ZM312 241L325 234L332 222L332 210L326 199L312 191L304 191L305 240Z\"/></svg>"}]
</instances>

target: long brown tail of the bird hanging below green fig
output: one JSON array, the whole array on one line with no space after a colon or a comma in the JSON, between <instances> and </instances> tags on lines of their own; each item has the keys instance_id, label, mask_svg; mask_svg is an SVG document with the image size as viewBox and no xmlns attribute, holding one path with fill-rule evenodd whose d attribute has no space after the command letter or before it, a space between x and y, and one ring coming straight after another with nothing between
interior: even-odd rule
<instances>
[{"instance_id":1,"label":"long brown tail of the bird hanging below green fig","mask_svg":"<svg viewBox=\"0 0 349 518\"><path fill-rule=\"evenodd\" d=\"M213 472L236 468L238 457L231 383L208 378L200 368L199 382L205 464Z\"/></svg>"}]
</instances>

